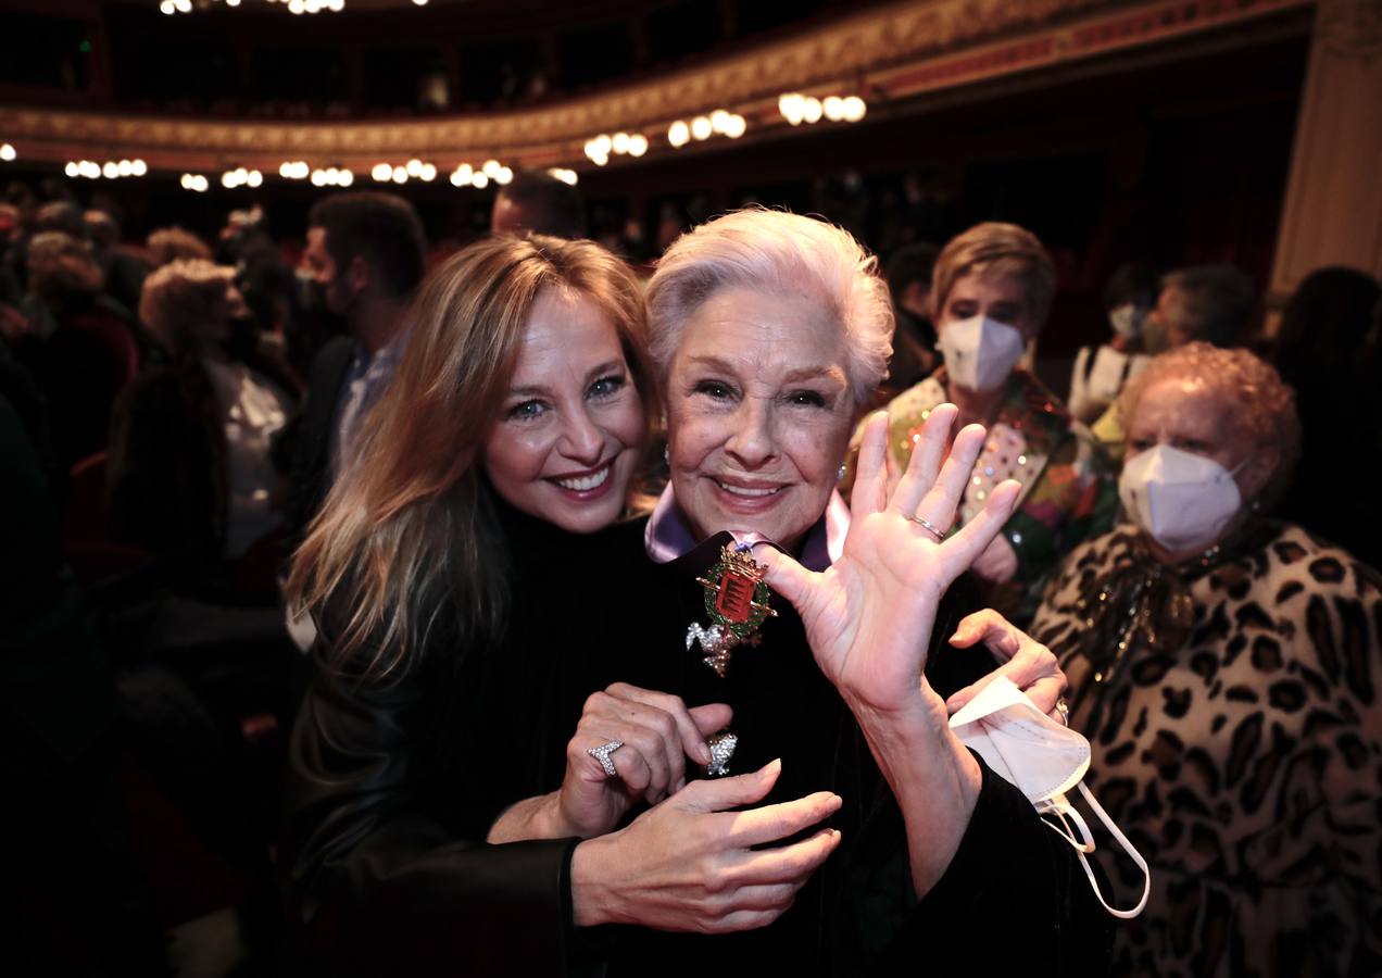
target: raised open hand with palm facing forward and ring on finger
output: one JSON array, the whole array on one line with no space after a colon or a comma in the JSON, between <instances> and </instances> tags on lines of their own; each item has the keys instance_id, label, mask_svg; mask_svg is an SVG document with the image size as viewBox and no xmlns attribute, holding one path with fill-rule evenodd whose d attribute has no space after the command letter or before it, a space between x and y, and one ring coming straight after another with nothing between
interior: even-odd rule
<instances>
[{"instance_id":1,"label":"raised open hand with palm facing forward and ring on finger","mask_svg":"<svg viewBox=\"0 0 1382 978\"><path fill-rule=\"evenodd\" d=\"M767 547L756 553L768 566L768 584L800 613L821 671L857 717L861 710L897 716L931 706L922 670L941 595L983 553L1017 501L1019 483L1003 482L984 510L944 541L909 519L919 515L936 526L954 525L985 434L981 425L967 425L947 454L956 416L954 405L931 412L891 490L887 416L868 420L850 532L840 559L828 570L813 573Z\"/></svg>"}]
</instances>

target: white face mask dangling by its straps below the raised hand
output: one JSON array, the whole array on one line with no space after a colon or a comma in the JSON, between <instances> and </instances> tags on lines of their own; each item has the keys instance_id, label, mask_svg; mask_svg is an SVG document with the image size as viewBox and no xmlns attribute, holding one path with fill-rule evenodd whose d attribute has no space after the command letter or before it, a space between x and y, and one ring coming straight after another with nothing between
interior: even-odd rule
<instances>
[{"instance_id":1,"label":"white face mask dangling by its straps below the raised hand","mask_svg":"<svg viewBox=\"0 0 1382 978\"><path fill-rule=\"evenodd\" d=\"M1089 769L1089 740L1036 709L1036 704L1006 675L991 681L958 710L949 718L949 727L967 747L978 751L994 774L1017 786L1038 812L1060 819L1063 827L1045 819L1042 825L1075 847L1075 855L1085 867L1089 885L1108 913L1125 920L1142 913L1151 892L1151 873L1147 861L1081 783ZM1142 899L1130 910L1108 906L1099 890L1095 872L1089 867L1086 854L1095 851L1093 836L1089 834L1085 819L1066 798L1066 792L1077 786L1099 821L1142 869L1144 880ZM1079 838L1075 837L1077 832Z\"/></svg>"}]
</instances>

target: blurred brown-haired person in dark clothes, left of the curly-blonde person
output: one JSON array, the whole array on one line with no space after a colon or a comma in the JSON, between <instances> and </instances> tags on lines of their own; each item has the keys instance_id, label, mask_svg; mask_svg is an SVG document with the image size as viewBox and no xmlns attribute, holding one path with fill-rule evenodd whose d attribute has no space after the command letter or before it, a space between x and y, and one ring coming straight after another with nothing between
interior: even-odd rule
<instances>
[{"instance_id":1,"label":"blurred brown-haired person in dark clothes, left of the curly-blonde person","mask_svg":"<svg viewBox=\"0 0 1382 978\"><path fill-rule=\"evenodd\" d=\"M29 326L12 347L43 391L64 470L105 448L111 405L140 362L129 314L102 294L102 278L83 240L47 231L29 242Z\"/></svg>"}]
</instances>

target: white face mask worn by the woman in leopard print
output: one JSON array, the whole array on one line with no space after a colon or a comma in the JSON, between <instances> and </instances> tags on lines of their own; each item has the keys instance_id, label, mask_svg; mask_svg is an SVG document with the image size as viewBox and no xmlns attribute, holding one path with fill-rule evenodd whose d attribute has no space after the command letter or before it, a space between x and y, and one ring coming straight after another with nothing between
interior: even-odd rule
<instances>
[{"instance_id":1,"label":"white face mask worn by the woman in leopard print","mask_svg":"<svg viewBox=\"0 0 1382 978\"><path fill-rule=\"evenodd\" d=\"M1242 508L1230 472L1213 459L1169 445L1139 452L1124 464L1118 497L1124 510L1173 554L1208 547Z\"/></svg>"}]
</instances>

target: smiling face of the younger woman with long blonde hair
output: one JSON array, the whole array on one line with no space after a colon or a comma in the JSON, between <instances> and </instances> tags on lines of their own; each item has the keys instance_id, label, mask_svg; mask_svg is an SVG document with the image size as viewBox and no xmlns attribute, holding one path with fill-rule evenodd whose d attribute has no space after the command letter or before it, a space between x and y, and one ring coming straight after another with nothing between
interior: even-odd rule
<instances>
[{"instance_id":1,"label":"smiling face of the younger woman with long blonde hair","mask_svg":"<svg viewBox=\"0 0 1382 978\"><path fill-rule=\"evenodd\" d=\"M513 507L574 533L619 518L645 437L619 334L585 297L539 293L484 468Z\"/></svg>"}]
</instances>

